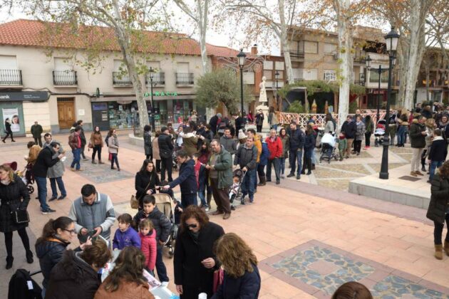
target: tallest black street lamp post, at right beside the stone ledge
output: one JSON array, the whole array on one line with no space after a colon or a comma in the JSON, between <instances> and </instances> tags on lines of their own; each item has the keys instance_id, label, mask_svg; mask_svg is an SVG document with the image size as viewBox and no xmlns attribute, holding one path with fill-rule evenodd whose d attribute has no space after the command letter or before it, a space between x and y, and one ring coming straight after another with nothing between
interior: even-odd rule
<instances>
[{"instance_id":1,"label":"tallest black street lamp post, at right beside the stone ledge","mask_svg":"<svg viewBox=\"0 0 449 299\"><path fill-rule=\"evenodd\" d=\"M394 27L391 27L391 31L385 36L386 51L388 52L388 94L385 119L388 122L390 120L390 100L391 100L391 71L393 70L393 60L396 57L396 48L398 48L399 34ZM380 179L388 179L388 146L390 145L390 138L388 132L383 135L383 152L382 152L382 164L381 172L379 173Z\"/></svg>"}]
</instances>

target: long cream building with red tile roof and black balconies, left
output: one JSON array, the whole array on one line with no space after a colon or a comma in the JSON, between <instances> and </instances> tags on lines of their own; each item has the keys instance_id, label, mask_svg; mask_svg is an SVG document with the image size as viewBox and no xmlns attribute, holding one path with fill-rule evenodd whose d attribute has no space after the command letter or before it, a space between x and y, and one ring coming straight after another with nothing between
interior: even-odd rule
<instances>
[{"instance_id":1,"label":"long cream building with red tile roof and black balconies, left","mask_svg":"<svg viewBox=\"0 0 449 299\"><path fill-rule=\"evenodd\" d=\"M102 130L133 127L138 106L130 78L123 73L118 45L105 48L100 66L88 72L68 52L86 55L84 49L91 41L66 35L50 44L41 38L43 29L41 22L23 19L0 25L1 120L17 115L16 135L29 132L36 120L51 132L68 130L80 119L86 130L97 125ZM113 36L108 28L100 30ZM195 80L202 73L197 41L177 33L145 34L163 46L162 52L155 49L146 61L157 71L153 77L156 125L179 122L194 109L205 115L205 109L195 105ZM49 46L54 50L51 56L46 55ZM150 78L143 77L150 110Z\"/></svg>"}]
</instances>

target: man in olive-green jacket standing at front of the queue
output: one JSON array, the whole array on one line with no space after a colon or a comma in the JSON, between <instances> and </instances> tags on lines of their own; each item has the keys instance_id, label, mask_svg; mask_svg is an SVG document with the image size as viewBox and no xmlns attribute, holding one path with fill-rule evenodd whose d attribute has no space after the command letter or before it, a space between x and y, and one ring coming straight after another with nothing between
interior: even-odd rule
<instances>
[{"instance_id":1,"label":"man in olive-green jacket standing at front of the queue","mask_svg":"<svg viewBox=\"0 0 449 299\"><path fill-rule=\"evenodd\" d=\"M231 216L229 187L232 186L232 157L220 145L220 140L212 140L210 147L212 154L206 169L209 170L210 187L212 187L215 204L217 204L217 211L212 215L224 214L223 219L229 219Z\"/></svg>"}]
</instances>

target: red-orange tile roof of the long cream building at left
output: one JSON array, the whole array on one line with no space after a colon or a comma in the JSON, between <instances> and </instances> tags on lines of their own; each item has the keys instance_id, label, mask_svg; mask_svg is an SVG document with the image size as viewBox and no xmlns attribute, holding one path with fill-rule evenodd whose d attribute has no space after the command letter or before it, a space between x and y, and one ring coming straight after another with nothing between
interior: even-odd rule
<instances>
[{"instance_id":1,"label":"red-orange tile roof of the long cream building at left","mask_svg":"<svg viewBox=\"0 0 449 299\"><path fill-rule=\"evenodd\" d=\"M51 37L48 37L51 28ZM145 38L139 41L139 50L150 53L168 53L179 55L201 55L200 45L192 38L181 33L162 33L143 31ZM53 48L95 47L97 41L101 49L120 51L111 28L100 26L80 26L71 28L68 23L51 23L36 20L19 19L0 24L0 45L36 46Z\"/></svg>"}]
</instances>

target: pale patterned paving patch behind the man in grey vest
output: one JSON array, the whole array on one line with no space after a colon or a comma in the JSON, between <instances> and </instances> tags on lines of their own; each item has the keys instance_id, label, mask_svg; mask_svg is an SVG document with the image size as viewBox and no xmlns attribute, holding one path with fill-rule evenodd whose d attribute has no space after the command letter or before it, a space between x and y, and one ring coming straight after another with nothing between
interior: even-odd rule
<instances>
[{"instance_id":1,"label":"pale patterned paving patch behind the man in grey vest","mask_svg":"<svg viewBox=\"0 0 449 299\"><path fill-rule=\"evenodd\" d=\"M90 157L92 152L85 151L86 157ZM120 172L117 170L110 169L110 162L108 161L108 152L102 153L103 158L105 158L105 164L92 164L91 159L87 161L83 161L81 158L81 169L83 171L77 172L81 175L81 177L85 177L86 179L91 180L94 183L106 183L106 182L115 182L120 181L122 179L130 179L135 177L135 174L131 174L130 172L126 172L123 169L120 169ZM66 161L64 161L64 165L66 166L66 171L71 171L70 165L73 161L73 154L71 151L66 151ZM120 157L118 157L118 163L120 164ZM115 166L116 167L116 166Z\"/></svg>"}]
</instances>

